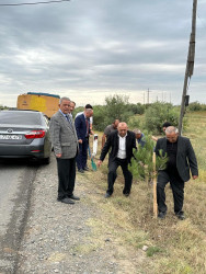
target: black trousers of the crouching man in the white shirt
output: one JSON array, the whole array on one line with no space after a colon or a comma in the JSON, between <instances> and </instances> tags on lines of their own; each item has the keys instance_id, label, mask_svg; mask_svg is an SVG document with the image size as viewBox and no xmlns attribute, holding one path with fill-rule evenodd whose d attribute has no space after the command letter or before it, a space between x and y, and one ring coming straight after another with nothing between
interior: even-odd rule
<instances>
[{"instance_id":1,"label":"black trousers of the crouching man in the white shirt","mask_svg":"<svg viewBox=\"0 0 206 274\"><path fill-rule=\"evenodd\" d=\"M108 189L106 191L108 194L112 194L114 191L114 182L117 176L116 170L119 165L123 170L123 174L125 178L125 187L123 190L123 193L124 194L130 193L133 175L128 170L128 162L126 159L116 158L115 160L108 162L108 176L107 176Z\"/></svg>"}]
</instances>

